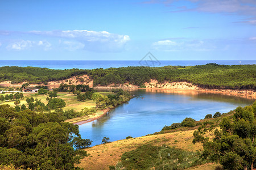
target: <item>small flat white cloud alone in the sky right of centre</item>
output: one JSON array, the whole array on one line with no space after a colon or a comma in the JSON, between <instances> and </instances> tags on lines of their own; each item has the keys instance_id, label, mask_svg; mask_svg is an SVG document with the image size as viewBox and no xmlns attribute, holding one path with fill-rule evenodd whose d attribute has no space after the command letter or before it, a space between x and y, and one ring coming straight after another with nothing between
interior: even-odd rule
<instances>
[{"instance_id":1,"label":"small flat white cloud alone in the sky right of centre","mask_svg":"<svg viewBox=\"0 0 256 170\"><path fill-rule=\"evenodd\" d=\"M152 44L152 48L158 51L175 52L181 50L189 51L209 51L216 47L210 42L205 42L202 40L187 40L187 41L171 41L162 40L157 41Z\"/></svg>"}]
</instances>

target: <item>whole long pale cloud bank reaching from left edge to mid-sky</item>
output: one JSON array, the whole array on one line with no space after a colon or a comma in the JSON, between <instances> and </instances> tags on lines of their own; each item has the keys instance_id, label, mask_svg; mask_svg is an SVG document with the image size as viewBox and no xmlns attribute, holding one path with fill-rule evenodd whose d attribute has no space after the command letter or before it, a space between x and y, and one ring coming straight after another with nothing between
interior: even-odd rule
<instances>
[{"instance_id":1,"label":"whole long pale cloud bank reaching from left edge to mid-sky","mask_svg":"<svg viewBox=\"0 0 256 170\"><path fill-rule=\"evenodd\" d=\"M107 31L28 31L11 32L0 31L0 35L5 37L26 37L27 40L8 39L6 45L8 50L26 50L32 48L42 48L44 50L88 50L93 52L121 52L130 41L127 35L118 35ZM39 40L38 40L39 39ZM44 39L42 41L40 39ZM47 41L46 41L47 40Z\"/></svg>"}]
</instances>

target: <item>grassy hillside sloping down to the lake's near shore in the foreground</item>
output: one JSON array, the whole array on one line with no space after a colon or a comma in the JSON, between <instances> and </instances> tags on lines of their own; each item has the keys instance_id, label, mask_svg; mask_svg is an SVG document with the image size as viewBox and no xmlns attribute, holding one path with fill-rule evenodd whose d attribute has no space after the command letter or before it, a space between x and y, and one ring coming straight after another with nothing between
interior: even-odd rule
<instances>
[{"instance_id":1,"label":"grassy hillside sloping down to the lake's near shore in the foreground","mask_svg":"<svg viewBox=\"0 0 256 170\"><path fill-rule=\"evenodd\" d=\"M184 167L190 166L191 167L188 169L215 169L215 167L217 166L216 163L209 163L208 160L200 160L200 158L196 156L197 154L203 151L203 145L202 143L193 144L193 133L197 128L199 128L200 125L206 124L206 122L207 126L210 126L210 124L215 124L217 126L217 129L219 129L218 124L220 123L222 118L230 116L232 117L233 113L234 111L222 114L222 116L218 118L207 118L205 120L196 121L195 123L197 126L193 128L163 128L163 130L160 131L159 133L150 134L144 137L123 139L120 141L106 143L104 145L97 145L90 148L86 148L85 151L88 153L88 156L81 160L81 164L79 164L79 167L85 169L109 169L109 167L118 166L119 164L121 164L120 162L124 158L124 160L131 158L133 158L131 160L137 160L138 158L136 158L136 155L139 154L139 151L136 152L136 150L139 147L147 146L148 148L148 146L156 146L160 147L159 152L156 149L155 151L153 150L153 152L151 153L158 153L158 156L156 156L156 159L154 159L154 161L158 162L157 164L155 164L155 169L158 169L159 165L170 165L171 162L173 164L173 162L175 162L176 159L180 159L180 169L184 169ZM210 140L213 139L213 131L212 133L207 133L206 137L208 137ZM166 158L164 158L162 154L164 151L163 148L161 148L163 146L168 146L168 148L174 147L171 150L176 151L177 157L170 158L171 162L170 160L169 162L167 162ZM171 152L171 150L167 151ZM172 152L172 155L174 154L175 152ZM179 154L183 156L179 158ZM193 156L189 157L189 155L191 154ZM124 157L124 155L126 157ZM167 156L167 154L164 155ZM160 157L161 159L159 160ZM139 156L139 158L141 158L141 156ZM151 158L145 158L144 162L146 163L144 164L150 164L147 162L147 160L150 162ZM134 165L134 163L131 162L131 165ZM142 164L140 165L142 166ZM136 167L133 168L138 169ZM166 167L166 169L168 168Z\"/></svg>"}]
</instances>

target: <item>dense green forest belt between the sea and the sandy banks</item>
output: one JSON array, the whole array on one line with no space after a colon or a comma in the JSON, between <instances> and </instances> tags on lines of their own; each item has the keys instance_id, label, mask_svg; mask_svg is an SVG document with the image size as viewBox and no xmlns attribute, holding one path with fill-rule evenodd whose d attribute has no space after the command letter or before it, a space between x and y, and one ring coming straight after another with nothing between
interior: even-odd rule
<instances>
[{"instance_id":1,"label":"dense green forest belt between the sea and the sandy banks","mask_svg":"<svg viewBox=\"0 0 256 170\"><path fill-rule=\"evenodd\" d=\"M120 67L93 70L51 70L38 67L0 67L0 80L12 83L28 81L46 83L67 79L74 75L88 74L94 86L129 82L141 86L150 79L162 83L186 81L203 88L256 89L256 65L217 65L164 67Z\"/></svg>"}]
</instances>

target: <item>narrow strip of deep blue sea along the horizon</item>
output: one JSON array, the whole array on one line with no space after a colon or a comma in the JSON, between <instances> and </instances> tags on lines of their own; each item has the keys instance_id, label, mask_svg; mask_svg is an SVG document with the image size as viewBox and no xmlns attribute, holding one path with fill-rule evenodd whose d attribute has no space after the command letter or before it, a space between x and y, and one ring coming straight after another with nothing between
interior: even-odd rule
<instances>
[{"instance_id":1,"label":"narrow strip of deep blue sea along the horizon","mask_svg":"<svg viewBox=\"0 0 256 170\"><path fill-rule=\"evenodd\" d=\"M107 69L110 67L128 67L128 66L195 66L205 65L207 63L217 63L219 65L253 65L256 60L0 60L2 66L20 66L20 67L42 67L48 69Z\"/></svg>"}]
</instances>

